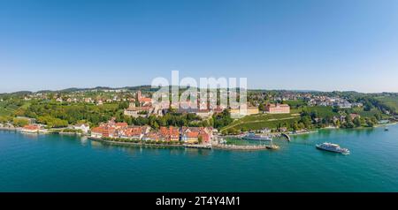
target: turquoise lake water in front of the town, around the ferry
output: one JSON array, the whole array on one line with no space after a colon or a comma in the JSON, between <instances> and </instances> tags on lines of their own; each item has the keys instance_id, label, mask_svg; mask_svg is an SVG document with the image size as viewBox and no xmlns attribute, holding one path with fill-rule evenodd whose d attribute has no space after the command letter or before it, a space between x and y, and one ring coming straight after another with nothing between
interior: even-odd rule
<instances>
[{"instance_id":1,"label":"turquoise lake water in front of the town, around the ferry","mask_svg":"<svg viewBox=\"0 0 398 210\"><path fill-rule=\"evenodd\" d=\"M255 152L0 131L0 191L398 191L398 126L389 128L324 130ZM325 141L351 154L315 148Z\"/></svg>"}]
</instances>

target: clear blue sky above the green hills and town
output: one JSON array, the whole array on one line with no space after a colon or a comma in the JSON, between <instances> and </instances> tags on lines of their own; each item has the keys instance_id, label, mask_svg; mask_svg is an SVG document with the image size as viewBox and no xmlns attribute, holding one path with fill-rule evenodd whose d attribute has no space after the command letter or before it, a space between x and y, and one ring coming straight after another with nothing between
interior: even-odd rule
<instances>
[{"instance_id":1,"label":"clear blue sky above the green hills and town","mask_svg":"<svg viewBox=\"0 0 398 210\"><path fill-rule=\"evenodd\" d=\"M0 92L247 77L398 92L398 1L0 1Z\"/></svg>"}]
</instances>

